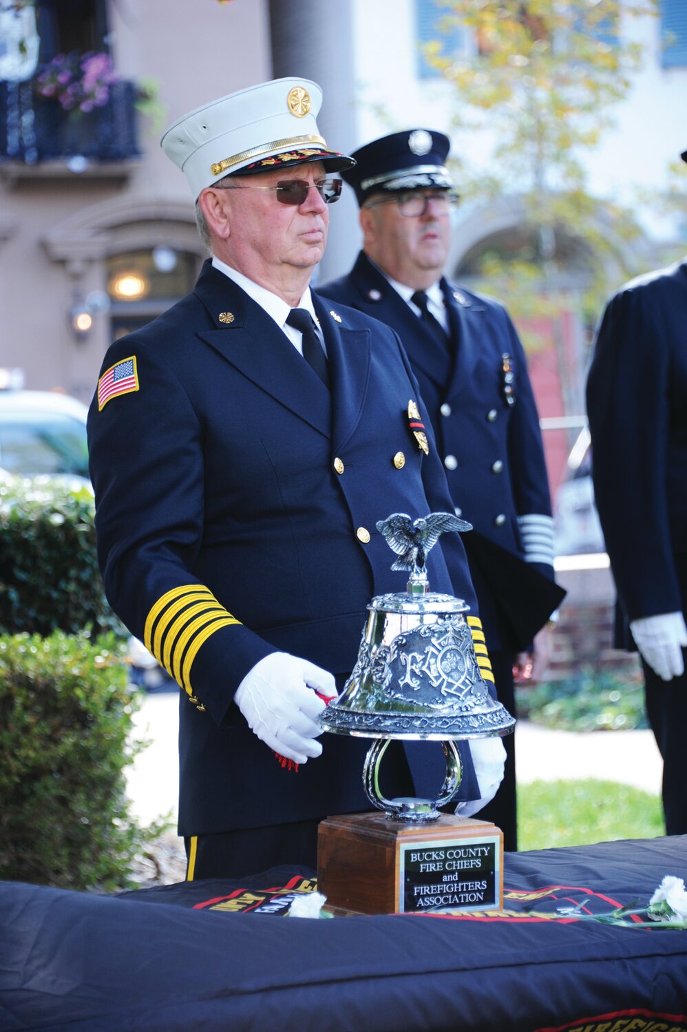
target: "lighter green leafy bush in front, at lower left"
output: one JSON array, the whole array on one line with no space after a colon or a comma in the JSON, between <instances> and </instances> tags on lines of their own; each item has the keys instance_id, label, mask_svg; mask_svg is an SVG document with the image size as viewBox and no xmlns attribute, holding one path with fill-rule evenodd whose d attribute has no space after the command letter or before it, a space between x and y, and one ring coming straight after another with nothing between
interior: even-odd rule
<instances>
[{"instance_id":1,"label":"lighter green leafy bush in front, at lower left","mask_svg":"<svg viewBox=\"0 0 687 1032\"><path fill-rule=\"evenodd\" d=\"M138 696L121 651L113 635L0 636L0 878L122 888L159 834L125 796Z\"/></svg>"}]
</instances>

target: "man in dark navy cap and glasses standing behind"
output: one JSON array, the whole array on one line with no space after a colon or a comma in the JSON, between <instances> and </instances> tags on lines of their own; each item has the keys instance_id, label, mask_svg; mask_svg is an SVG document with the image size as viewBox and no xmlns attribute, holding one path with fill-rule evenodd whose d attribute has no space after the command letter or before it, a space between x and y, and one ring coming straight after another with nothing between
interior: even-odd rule
<instances>
[{"instance_id":1,"label":"man in dark navy cap and glasses standing behind","mask_svg":"<svg viewBox=\"0 0 687 1032\"><path fill-rule=\"evenodd\" d=\"M363 250L348 276L319 289L401 338L455 511L475 527L465 547L498 698L515 713L514 664L529 676L538 644L546 666L546 634L534 636L563 592L553 583L549 484L522 346L502 305L444 276L457 200L449 147L444 133L408 129L354 153L356 164L342 175L360 205ZM512 736L505 746L505 777L481 817L495 821L504 847L515 849Z\"/></svg>"}]
</instances>

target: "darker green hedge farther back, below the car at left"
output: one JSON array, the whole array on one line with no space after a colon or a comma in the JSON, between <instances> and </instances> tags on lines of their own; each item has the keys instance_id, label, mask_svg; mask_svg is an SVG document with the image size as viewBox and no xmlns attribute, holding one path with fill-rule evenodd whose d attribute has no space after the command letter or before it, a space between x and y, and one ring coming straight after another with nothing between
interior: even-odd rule
<instances>
[{"instance_id":1,"label":"darker green hedge farther back, below the car at left","mask_svg":"<svg viewBox=\"0 0 687 1032\"><path fill-rule=\"evenodd\" d=\"M92 493L47 478L0 484L0 632L86 626L123 631L98 570Z\"/></svg>"}]
</instances>

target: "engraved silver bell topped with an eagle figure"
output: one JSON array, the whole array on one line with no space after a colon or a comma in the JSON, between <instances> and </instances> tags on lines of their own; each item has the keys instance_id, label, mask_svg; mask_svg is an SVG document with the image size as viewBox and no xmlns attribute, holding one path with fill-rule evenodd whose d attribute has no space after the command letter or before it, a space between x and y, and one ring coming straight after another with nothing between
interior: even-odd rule
<instances>
[{"instance_id":1,"label":"engraved silver bell topped with an eagle figure","mask_svg":"<svg viewBox=\"0 0 687 1032\"><path fill-rule=\"evenodd\" d=\"M367 606L356 665L319 719L325 731L377 740L363 772L365 793L375 807L397 820L435 820L438 807L460 785L455 741L509 735L515 719L489 695L482 669L489 677L490 665L486 655L482 667L478 659L473 632L481 637L480 624L466 616L469 606L430 592L427 583L426 556L439 535L471 529L470 524L449 513L415 522L395 513L377 526L400 556L392 570L411 570L411 578L405 592L378 595ZM486 649L480 646L480 651ZM379 767L391 739L443 742L447 776L436 800L387 800L381 795Z\"/></svg>"}]
</instances>

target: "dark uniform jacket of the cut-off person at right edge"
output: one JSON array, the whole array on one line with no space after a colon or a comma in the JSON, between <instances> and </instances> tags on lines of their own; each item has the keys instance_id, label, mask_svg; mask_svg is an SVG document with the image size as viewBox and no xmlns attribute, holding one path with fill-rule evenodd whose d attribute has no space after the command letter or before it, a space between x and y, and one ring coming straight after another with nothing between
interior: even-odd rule
<instances>
[{"instance_id":1,"label":"dark uniform jacket of the cut-off person at right edge","mask_svg":"<svg viewBox=\"0 0 687 1032\"><path fill-rule=\"evenodd\" d=\"M687 553L686 336L683 262L609 301L589 369L594 495L625 623L683 609L675 556ZM627 645L622 633L618 643Z\"/></svg>"}]
</instances>

